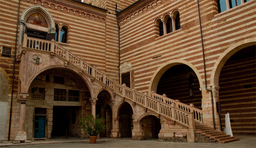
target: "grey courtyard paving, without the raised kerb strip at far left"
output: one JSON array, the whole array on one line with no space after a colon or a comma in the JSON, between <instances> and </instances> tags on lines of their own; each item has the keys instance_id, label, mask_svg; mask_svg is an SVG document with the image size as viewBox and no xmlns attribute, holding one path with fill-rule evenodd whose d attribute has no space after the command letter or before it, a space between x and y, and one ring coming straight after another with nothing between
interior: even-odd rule
<instances>
[{"instance_id":1,"label":"grey courtyard paving, without the raised kerb strip at far left","mask_svg":"<svg viewBox=\"0 0 256 148\"><path fill-rule=\"evenodd\" d=\"M97 142L96 144L90 144L88 142L76 142L58 144L17 145L8 146L6 148L256 148L255 136L250 136L249 138L239 138L240 141L235 141L227 144L159 142L157 139L148 139L143 141L121 139L114 141Z\"/></svg>"}]
</instances>

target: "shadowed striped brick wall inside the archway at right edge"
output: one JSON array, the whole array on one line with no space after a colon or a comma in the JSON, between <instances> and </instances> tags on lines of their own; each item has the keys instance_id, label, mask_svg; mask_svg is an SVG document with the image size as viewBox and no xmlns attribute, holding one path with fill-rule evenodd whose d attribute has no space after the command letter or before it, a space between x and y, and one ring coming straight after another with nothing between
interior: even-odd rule
<instances>
[{"instance_id":1,"label":"shadowed striped brick wall inside the archway at right edge","mask_svg":"<svg viewBox=\"0 0 256 148\"><path fill-rule=\"evenodd\" d=\"M256 57L255 46L247 57L239 51L234 60L228 60L220 73L221 123L225 128L225 114L229 113L233 134L256 134ZM254 52L253 52L254 50ZM234 54L235 55L235 54ZM232 57L231 57L232 58Z\"/></svg>"}]
</instances>

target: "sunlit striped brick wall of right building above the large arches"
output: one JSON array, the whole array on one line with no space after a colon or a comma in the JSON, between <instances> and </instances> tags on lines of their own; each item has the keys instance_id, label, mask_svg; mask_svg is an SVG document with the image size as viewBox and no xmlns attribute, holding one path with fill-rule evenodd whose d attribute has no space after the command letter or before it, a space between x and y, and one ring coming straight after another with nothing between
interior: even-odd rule
<instances>
[{"instance_id":1,"label":"sunlit striped brick wall of right building above the large arches","mask_svg":"<svg viewBox=\"0 0 256 148\"><path fill-rule=\"evenodd\" d=\"M210 81L212 69L214 64L218 62L220 55L224 54L224 51L235 43L243 42L246 39L255 39L256 1L248 1L221 13L218 13L217 2L214 0L199 0L199 7L207 86L213 86L212 82L216 80ZM181 29L158 37L159 30L155 21L158 18L162 19L166 14L172 14L175 10L180 11ZM142 1L125 10L118 17L121 32L121 64L124 62L132 63L132 72L134 72L134 77L132 76L131 80L132 88L141 92L151 91L149 90L152 88L151 86L157 85L151 84L151 82L158 67L174 60L183 60L196 67L194 71L199 73L198 78L203 81L203 85L200 87L205 87L197 1ZM161 73L164 74L164 71ZM255 71L252 73L255 74ZM187 93L187 90L184 91ZM160 91L159 93L160 95L167 94L168 91ZM255 105L250 106L250 108L255 111ZM251 110L249 115L252 115ZM250 120L249 118L247 117L246 120ZM252 118L255 119L255 117ZM250 125L248 126L250 127L247 133L255 134L255 128L252 128L254 123L249 121L248 124ZM237 129L241 128L241 125ZM246 127L245 125L247 124L242 126ZM236 131L236 133L242 132Z\"/></svg>"}]
</instances>

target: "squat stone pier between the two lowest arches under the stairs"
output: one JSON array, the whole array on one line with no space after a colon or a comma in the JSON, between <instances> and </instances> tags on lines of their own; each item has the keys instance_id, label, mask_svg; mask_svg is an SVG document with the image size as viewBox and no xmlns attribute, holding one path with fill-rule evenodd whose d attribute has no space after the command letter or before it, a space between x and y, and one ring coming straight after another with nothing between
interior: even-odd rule
<instances>
[{"instance_id":1,"label":"squat stone pier between the two lowest arches under the stairs","mask_svg":"<svg viewBox=\"0 0 256 148\"><path fill-rule=\"evenodd\" d=\"M132 140L145 140L145 134L141 128L141 121L132 121Z\"/></svg>"}]
</instances>

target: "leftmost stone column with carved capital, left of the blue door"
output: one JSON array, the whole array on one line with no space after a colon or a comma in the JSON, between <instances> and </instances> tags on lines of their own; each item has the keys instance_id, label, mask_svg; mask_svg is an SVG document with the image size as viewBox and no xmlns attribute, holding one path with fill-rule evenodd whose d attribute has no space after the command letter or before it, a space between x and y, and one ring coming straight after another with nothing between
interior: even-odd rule
<instances>
[{"instance_id":1,"label":"leftmost stone column with carved capital, left of the blue door","mask_svg":"<svg viewBox=\"0 0 256 148\"><path fill-rule=\"evenodd\" d=\"M27 140L27 133L25 132L25 112L26 112L26 99L28 97L27 93L20 94L20 122L19 122L19 131L16 134L15 141L20 143L30 143Z\"/></svg>"}]
</instances>

